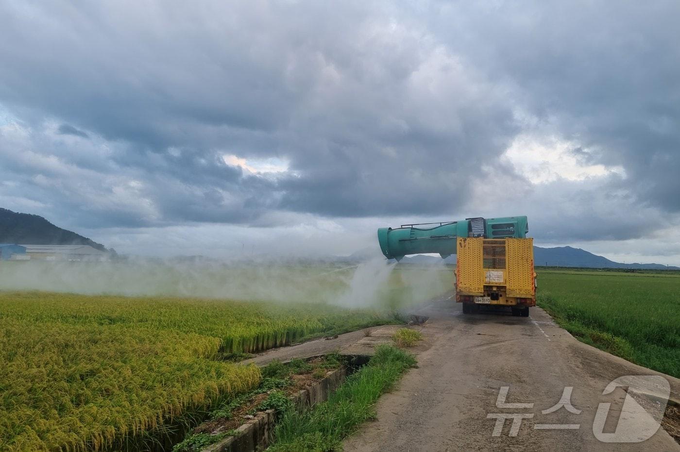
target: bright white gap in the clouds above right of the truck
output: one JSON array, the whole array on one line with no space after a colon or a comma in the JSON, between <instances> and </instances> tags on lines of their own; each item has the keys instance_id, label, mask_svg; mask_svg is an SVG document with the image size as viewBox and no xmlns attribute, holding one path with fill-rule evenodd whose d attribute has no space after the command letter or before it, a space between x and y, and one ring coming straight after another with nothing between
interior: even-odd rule
<instances>
[{"instance_id":1,"label":"bright white gap in the clouds above right of the truck","mask_svg":"<svg viewBox=\"0 0 680 452\"><path fill-rule=\"evenodd\" d=\"M573 141L528 135L515 138L503 154L515 170L532 184L545 184L558 179L582 181L588 177L602 177L616 173L626 177L623 167L607 167L588 162L590 154Z\"/></svg>"}]
</instances>

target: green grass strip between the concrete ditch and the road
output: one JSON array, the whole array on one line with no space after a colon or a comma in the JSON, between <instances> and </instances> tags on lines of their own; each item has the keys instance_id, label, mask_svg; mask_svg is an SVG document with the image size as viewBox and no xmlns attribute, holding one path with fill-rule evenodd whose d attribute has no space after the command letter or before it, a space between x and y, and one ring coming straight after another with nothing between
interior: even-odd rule
<instances>
[{"instance_id":1,"label":"green grass strip between the concrete ditch and the road","mask_svg":"<svg viewBox=\"0 0 680 452\"><path fill-rule=\"evenodd\" d=\"M415 366L411 353L379 345L369 363L347 377L326 402L299 412L288 408L276 425L269 451L334 451L360 423L375 417L373 404Z\"/></svg>"}]
</instances>

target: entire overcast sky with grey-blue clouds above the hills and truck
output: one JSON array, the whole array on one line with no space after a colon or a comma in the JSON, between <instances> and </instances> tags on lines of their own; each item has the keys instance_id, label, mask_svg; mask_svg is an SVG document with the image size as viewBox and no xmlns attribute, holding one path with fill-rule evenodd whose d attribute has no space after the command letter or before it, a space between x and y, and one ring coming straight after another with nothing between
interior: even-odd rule
<instances>
[{"instance_id":1,"label":"entire overcast sky with grey-blue clouds above the hills and truck","mask_svg":"<svg viewBox=\"0 0 680 452\"><path fill-rule=\"evenodd\" d=\"M3 1L0 206L119 252L528 215L680 264L680 2Z\"/></svg>"}]
</instances>

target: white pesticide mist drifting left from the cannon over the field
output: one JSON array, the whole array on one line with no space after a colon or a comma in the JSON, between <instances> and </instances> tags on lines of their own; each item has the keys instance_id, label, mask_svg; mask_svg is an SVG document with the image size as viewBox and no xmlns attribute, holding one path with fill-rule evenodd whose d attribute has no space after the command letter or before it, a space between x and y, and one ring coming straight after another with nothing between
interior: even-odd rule
<instances>
[{"instance_id":1,"label":"white pesticide mist drifting left from the cannon over the field","mask_svg":"<svg viewBox=\"0 0 680 452\"><path fill-rule=\"evenodd\" d=\"M399 309L452 287L441 265L347 262L0 262L0 290L312 302Z\"/></svg>"}]
</instances>

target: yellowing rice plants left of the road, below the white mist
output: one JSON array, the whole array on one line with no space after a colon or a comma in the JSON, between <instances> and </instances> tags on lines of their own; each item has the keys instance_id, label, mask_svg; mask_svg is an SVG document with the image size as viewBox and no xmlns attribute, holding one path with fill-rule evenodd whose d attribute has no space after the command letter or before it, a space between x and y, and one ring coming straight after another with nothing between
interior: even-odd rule
<instances>
[{"instance_id":1,"label":"yellowing rice plants left of the road, below the white mist","mask_svg":"<svg viewBox=\"0 0 680 452\"><path fill-rule=\"evenodd\" d=\"M312 305L0 293L0 450L118 448L258 384L258 368L221 353L385 321Z\"/></svg>"}]
</instances>

